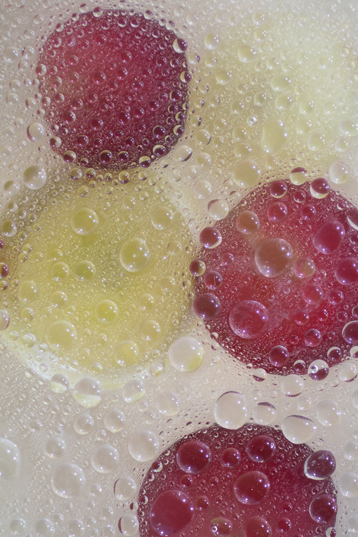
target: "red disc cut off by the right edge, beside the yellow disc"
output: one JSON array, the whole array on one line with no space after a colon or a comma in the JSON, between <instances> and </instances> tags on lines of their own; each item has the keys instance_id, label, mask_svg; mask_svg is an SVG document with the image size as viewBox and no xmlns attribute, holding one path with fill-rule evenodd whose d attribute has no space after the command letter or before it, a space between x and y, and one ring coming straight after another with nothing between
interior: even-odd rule
<instances>
[{"instance_id":1,"label":"red disc cut off by the right edge, beside the yellow disc","mask_svg":"<svg viewBox=\"0 0 358 537\"><path fill-rule=\"evenodd\" d=\"M287 208L282 221L267 214L282 203L274 194ZM328 358L328 366L349 356L358 340L349 324L358 302L352 215L348 200L332 190L317 199L310 183L267 183L240 200L215 224L222 241L199 252L206 272L193 282L194 311L217 342L245 364L281 375L308 373L331 347L341 358ZM198 304L207 300L206 274L215 271L222 284L210 289L210 303L220 308L206 318ZM254 303L261 304L256 314L237 306Z\"/></svg>"}]
</instances>

